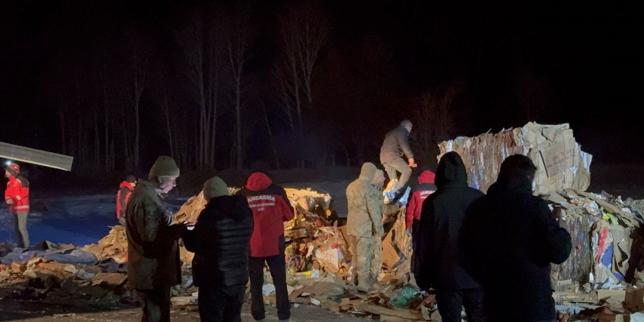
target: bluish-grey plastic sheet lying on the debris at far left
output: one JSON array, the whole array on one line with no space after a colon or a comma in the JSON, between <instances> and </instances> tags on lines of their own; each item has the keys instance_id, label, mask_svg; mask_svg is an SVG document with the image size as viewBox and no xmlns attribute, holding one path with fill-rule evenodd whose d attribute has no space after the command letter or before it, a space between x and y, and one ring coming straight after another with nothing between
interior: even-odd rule
<instances>
[{"instance_id":1,"label":"bluish-grey plastic sheet lying on the debris at far left","mask_svg":"<svg viewBox=\"0 0 644 322\"><path fill-rule=\"evenodd\" d=\"M33 257L42 257L47 260L57 261L62 264L84 264L93 265L98 261L96 256L91 252L82 249L61 249L59 251L27 251L26 249L16 248L13 252L0 258L0 263L11 265L14 261L26 263Z\"/></svg>"}]
</instances>

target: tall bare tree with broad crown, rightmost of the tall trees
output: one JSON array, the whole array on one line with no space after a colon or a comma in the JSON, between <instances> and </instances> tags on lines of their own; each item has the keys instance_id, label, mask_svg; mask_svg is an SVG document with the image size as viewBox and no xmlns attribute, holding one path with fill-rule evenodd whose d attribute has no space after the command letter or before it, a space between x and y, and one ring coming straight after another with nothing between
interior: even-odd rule
<instances>
[{"instance_id":1,"label":"tall bare tree with broad crown, rightmost of the tall trees","mask_svg":"<svg viewBox=\"0 0 644 322\"><path fill-rule=\"evenodd\" d=\"M274 76L283 93L287 115L290 115L290 109L295 109L298 115L300 131L303 122L302 99L308 108L312 108L316 61L330 32L330 20L318 1L300 1L281 17L279 39L282 51L274 68Z\"/></svg>"}]
</instances>

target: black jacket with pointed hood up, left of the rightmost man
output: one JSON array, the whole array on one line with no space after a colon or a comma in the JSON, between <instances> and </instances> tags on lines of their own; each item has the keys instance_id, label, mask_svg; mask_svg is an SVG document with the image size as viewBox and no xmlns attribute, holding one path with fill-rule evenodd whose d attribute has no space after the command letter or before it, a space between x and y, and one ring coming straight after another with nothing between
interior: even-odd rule
<instances>
[{"instance_id":1,"label":"black jacket with pointed hood up, left of the rightmost man","mask_svg":"<svg viewBox=\"0 0 644 322\"><path fill-rule=\"evenodd\" d=\"M421 289L475 289L478 283L461 267L459 232L469 205L483 196L468 187L468 174L455 152L444 155L436 172L437 191L422 204L415 276Z\"/></svg>"}]
</instances>

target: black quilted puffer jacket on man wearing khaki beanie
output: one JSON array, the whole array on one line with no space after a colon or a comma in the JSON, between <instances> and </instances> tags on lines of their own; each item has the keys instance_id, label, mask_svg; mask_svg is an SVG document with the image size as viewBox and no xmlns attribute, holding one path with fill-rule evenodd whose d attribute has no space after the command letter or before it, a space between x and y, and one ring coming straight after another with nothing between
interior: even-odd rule
<instances>
[{"instance_id":1,"label":"black quilted puffer jacket on man wearing khaki beanie","mask_svg":"<svg viewBox=\"0 0 644 322\"><path fill-rule=\"evenodd\" d=\"M185 248L195 253L194 285L245 285L252 227L252 211L245 198L213 198L199 215L194 230L184 234Z\"/></svg>"}]
</instances>

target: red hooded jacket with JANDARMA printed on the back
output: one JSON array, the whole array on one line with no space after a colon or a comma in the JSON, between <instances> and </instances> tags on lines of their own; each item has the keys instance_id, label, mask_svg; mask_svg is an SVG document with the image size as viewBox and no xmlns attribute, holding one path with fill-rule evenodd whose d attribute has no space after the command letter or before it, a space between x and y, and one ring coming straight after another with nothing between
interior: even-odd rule
<instances>
[{"instance_id":1,"label":"red hooded jacket with JANDARMA printed on the back","mask_svg":"<svg viewBox=\"0 0 644 322\"><path fill-rule=\"evenodd\" d=\"M254 228L251 235L251 257L278 255L279 239L284 235L284 222L294 216L284 189L274 185L269 176L256 172L248 178L246 187L238 194L246 197L252 210Z\"/></svg>"}]
</instances>

